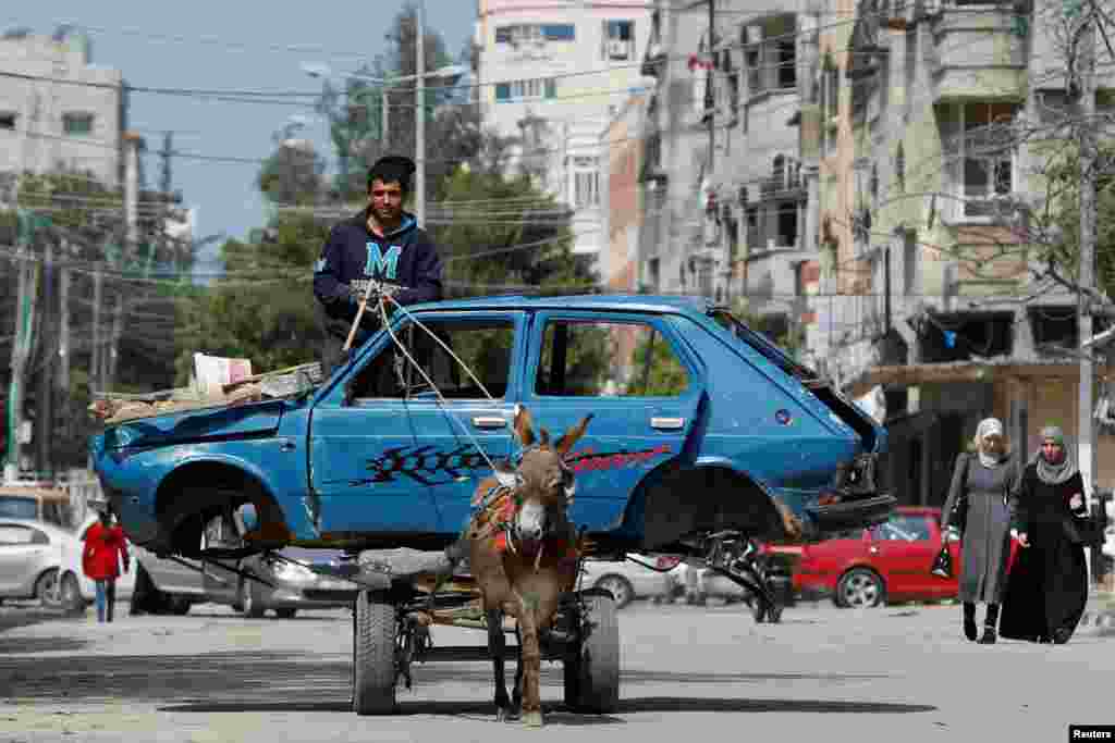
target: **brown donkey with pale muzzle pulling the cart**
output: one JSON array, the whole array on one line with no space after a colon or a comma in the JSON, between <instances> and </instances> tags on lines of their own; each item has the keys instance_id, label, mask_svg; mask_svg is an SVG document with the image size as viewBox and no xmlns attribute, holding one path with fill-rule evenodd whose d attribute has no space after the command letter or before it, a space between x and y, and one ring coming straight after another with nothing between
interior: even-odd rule
<instances>
[{"instance_id":1,"label":"brown donkey with pale muzzle pulling the cart","mask_svg":"<svg viewBox=\"0 0 1115 743\"><path fill-rule=\"evenodd\" d=\"M500 721L521 712L526 725L543 722L539 633L550 629L562 594L573 589L579 561L578 536L568 518L573 472L564 458L590 420L591 414L553 444L542 429L536 443L531 414L520 407L514 431L524 451L517 469L481 481L473 498L477 510L466 530L468 560L487 620ZM521 648L514 704L507 698L504 675L506 615L517 620Z\"/></svg>"}]
</instances>

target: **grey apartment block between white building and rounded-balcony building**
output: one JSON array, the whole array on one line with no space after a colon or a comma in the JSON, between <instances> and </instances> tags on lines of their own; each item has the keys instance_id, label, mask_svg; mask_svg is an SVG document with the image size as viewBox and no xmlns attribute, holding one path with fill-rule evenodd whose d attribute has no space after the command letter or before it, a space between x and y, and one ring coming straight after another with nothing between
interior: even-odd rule
<instances>
[{"instance_id":1,"label":"grey apartment block between white building and rounded-balcony building","mask_svg":"<svg viewBox=\"0 0 1115 743\"><path fill-rule=\"evenodd\" d=\"M758 0L663 4L644 55L657 85L644 135L641 283L731 304L776 336L808 336L816 322L801 156L804 20L793 4Z\"/></svg>"}]
</instances>

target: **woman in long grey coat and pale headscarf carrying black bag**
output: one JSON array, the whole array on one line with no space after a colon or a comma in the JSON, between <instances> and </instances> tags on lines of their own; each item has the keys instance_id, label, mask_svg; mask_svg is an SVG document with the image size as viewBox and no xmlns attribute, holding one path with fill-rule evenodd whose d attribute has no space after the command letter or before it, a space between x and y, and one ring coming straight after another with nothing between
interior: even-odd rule
<instances>
[{"instance_id":1,"label":"woman in long grey coat and pale headscarf carrying black bag","mask_svg":"<svg viewBox=\"0 0 1115 743\"><path fill-rule=\"evenodd\" d=\"M980 421L973 443L973 453L957 457L942 527L951 526L961 535L960 600L964 636L976 639L976 604L987 604L979 642L990 645L998 636L999 604L1007 584L1009 495L1015 490L1018 468L1007 452L999 419Z\"/></svg>"}]
</instances>

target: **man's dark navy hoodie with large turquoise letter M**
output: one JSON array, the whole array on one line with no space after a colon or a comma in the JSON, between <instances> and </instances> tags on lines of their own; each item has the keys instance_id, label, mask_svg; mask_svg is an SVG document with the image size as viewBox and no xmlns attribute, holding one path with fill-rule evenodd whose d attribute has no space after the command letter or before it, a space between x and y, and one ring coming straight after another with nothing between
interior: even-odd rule
<instances>
[{"instance_id":1,"label":"man's dark navy hoodie with large turquoise letter M","mask_svg":"<svg viewBox=\"0 0 1115 743\"><path fill-rule=\"evenodd\" d=\"M403 305L442 299L442 258L414 215L404 212L399 227L384 237L368 229L368 209L329 233L313 270L313 295L324 309L331 335L348 338L360 306L352 287L362 289L369 280L405 286L395 294ZM378 326L378 313L369 305L356 343L362 343Z\"/></svg>"}]
</instances>

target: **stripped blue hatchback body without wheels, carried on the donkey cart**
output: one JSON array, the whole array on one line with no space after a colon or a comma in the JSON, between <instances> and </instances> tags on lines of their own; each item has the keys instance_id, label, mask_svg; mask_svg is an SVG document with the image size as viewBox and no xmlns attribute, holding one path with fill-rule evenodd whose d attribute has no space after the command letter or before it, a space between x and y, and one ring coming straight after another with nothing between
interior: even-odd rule
<instances>
[{"instance_id":1,"label":"stripped blue hatchback body without wheels, carried on the donkey cart","mask_svg":"<svg viewBox=\"0 0 1115 743\"><path fill-rule=\"evenodd\" d=\"M835 410L792 373L793 362L779 349L758 334L723 327L709 310L700 299L608 295L414 305L392 317L392 327L410 316L513 325L507 383L498 399L349 399L347 382L394 343L381 331L301 399L120 423L95 437L90 451L138 544L158 535L161 486L182 468L203 463L256 479L297 539L454 535L467 520L477 482L491 473L476 444L492 460L514 454L511 422L523 403L535 429L545 427L554 438L593 414L570 453L576 472L571 517L590 531L638 539L643 505L633 495L648 476L670 466L746 476L805 518L838 465L885 451L885 432L857 408ZM660 333L685 368L687 388L668 398L560 397L536 389L546 323L601 319L649 324ZM504 423L477 423L493 419Z\"/></svg>"}]
</instances>

